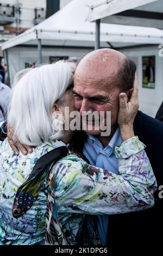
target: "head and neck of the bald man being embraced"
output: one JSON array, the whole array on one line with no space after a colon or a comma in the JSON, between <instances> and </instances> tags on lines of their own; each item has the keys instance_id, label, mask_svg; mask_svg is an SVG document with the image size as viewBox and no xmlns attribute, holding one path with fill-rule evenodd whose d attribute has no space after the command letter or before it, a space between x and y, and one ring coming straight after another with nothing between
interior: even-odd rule
<instances>
[{"instance_id":1,"label":"head and neck of the bald man being embraced","mask_svg":"<svg viewBox=\"0 0 163 256\"><path fill-rule=\"evenodd\" d=\"M128 66L130 69L126 72ZM88 135L96 136L104 148L117 130L118 95L124 92L130 96L135 71L136 66L133 60L110 49L101 49L87 54L77 66L73 94L75 107L81 117L84 111L111 112L110 136L101 136L101 127L96 130L93 127L89 130L89 126L86 126L85 130Z\"/></svg>"}]
</instances>

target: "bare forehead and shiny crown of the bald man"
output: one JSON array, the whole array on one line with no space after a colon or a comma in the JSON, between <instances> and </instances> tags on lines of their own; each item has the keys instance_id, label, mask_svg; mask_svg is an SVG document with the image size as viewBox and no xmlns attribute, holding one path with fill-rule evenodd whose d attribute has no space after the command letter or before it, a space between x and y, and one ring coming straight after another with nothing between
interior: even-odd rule
<instances>
[{"instance_id":1,"label":"bare forehead and shiny crown of the bald man","mask_svg":"<svg viewBox=\"0 0 163 256\"><path fill-rule=\"evenodd\" d=\"M74 88L93 88L110 91L119 86L120 70L126 56L108 49L97 50L87 54L77 66L74 75Z\"/></svg>"}]
</instances>

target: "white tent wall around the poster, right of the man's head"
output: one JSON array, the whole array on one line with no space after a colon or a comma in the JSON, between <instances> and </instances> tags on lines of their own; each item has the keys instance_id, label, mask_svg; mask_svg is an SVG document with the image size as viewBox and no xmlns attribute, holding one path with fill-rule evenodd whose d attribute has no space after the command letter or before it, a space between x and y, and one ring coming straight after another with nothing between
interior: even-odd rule
<instances>
[{"instance_id":1,"label":"white tent wall around the poster, right of the man's head","mask_svg":"<svg viewBox=\"0 0 163 256\"><path fill-rule=\"evenodd\" d=\"M159 57L158 46L149 46L123 50L124 54L133 57L137 64L137 75L139 81L140 110L155 117L158 108L163 101L163 57ZM155 89L142 88L142 56L155 55Z\"/></svg>"}]
</instances>

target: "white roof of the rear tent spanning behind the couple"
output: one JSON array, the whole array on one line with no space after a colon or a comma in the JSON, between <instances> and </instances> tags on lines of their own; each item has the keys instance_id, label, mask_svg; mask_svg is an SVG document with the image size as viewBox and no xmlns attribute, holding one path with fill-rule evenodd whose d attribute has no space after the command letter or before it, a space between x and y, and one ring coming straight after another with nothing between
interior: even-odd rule
<instances>
[{"instance_id":1,"label":"white roof of the rear tent spanning behind the couple","mask_svg":"<svg viewBox=\"0 0 163 256\"><path fill-rule=\"evenodd\" d=\"M143 1L141 0L141 2ZM4 42L2 49L5 50L36 39L95 41L95 23L86 21L90 9L88 4L92 4L92 0L73 0L39 25ZM156 28L101 24L100 36L103 42L136 44L160 44L163 42L163 32Z\"/></svg>"}]
</instances>

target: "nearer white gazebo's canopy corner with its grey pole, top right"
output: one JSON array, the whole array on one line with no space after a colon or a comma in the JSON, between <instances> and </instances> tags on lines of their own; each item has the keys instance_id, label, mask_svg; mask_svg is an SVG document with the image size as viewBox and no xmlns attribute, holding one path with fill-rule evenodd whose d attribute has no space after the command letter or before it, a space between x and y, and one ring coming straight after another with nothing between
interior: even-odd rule
<instances>
[{"instance_id":1,"label":"nearer white gazebo's canopy corner with its grey pole, top right","mask_svg":"<svg viewBox=\"0 0 163 256\"><path fill-rule=\"evenodd\" d=\"M162 0L93 0L87 21L96 22L96 48L99 48L100 23L163 29Z\"/></svg>"}]
</instances>

